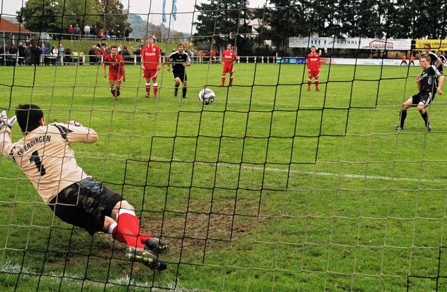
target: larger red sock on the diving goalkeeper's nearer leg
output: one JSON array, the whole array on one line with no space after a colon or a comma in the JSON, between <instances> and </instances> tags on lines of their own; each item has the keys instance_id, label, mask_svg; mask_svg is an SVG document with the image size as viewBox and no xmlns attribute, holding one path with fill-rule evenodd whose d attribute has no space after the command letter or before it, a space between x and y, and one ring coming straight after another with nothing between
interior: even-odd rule
<instances>
[{"instance_id":1,"label":"larger red sock on the diving goalkeeper's nearer leg","mask_svg":"<svg viewBox=\"0 0 447 292\"><path fill-rule=\"evenodd\" d=\"M140 240L138 240L138 233L140 233L140 220L136 216L129 213L121 213L117 219L117 232L115 239L119 242L123 240L129 247L136 247L138 249L144 248Z\"/></svg>"}]
</instances>

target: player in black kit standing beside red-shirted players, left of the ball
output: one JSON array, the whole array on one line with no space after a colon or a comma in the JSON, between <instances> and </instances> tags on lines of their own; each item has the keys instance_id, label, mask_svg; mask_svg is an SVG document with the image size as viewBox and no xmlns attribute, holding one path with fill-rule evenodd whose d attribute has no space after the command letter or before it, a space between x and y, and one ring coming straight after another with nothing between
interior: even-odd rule
<instances>
[{"instance_id":1,"label":"player in black kit standing beside red-shirted players, left of the ball","mask_svg":"<svg viewBox=\"0 0 447 292\"><path fill-rule=\"evenodd\" d=\"M175 80L174 96L177 96L180 82L182 82L182 97L186 98L186 82L188 81L188 78L186 77L185 66L191 66L191 61L189 61L188 54L186 54L186 52L184 51L184 45L182 43L179 43L179 45L177 45L177 50L170 53L168 58L166 58L166 69L168 71L170 71L170 59L173 60L173 75Z\"/></svg>"}]
</instances>

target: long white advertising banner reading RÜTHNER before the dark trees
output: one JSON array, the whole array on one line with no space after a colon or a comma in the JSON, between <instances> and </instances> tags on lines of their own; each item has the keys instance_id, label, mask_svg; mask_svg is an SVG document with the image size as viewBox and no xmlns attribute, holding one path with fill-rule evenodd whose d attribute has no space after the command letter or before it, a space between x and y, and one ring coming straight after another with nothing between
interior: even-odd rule
<instances>
[{"instance_id":1,"label":"long white advertising banner reading R\u00dcTHNER before the dark trees","mask_svg":"<svg viewBox=\"0 0 447 292\"><path fill-rule=\"evenodd\" d=\"M334 49L360 49L360 50L411 50L411 40L381 40L379 38L288 38L289 48L334 48Z\"/></svg>"}]
</instances>

